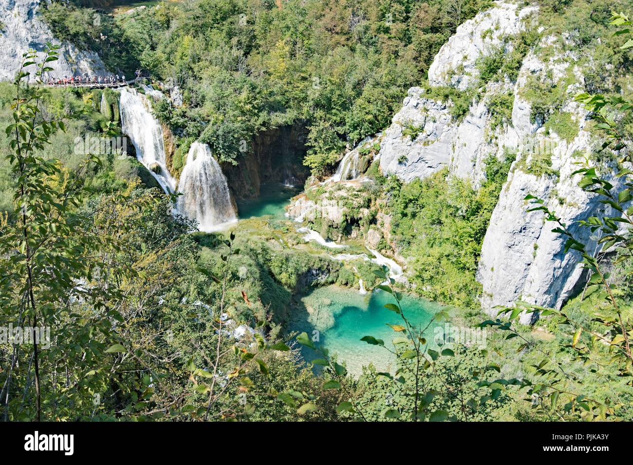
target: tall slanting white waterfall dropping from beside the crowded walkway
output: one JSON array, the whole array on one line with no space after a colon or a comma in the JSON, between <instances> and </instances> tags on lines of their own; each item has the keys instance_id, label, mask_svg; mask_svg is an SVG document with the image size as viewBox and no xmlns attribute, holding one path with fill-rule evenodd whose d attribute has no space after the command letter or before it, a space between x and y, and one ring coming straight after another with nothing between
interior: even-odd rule
<instances>
[{"instance_id":1,"label":"tall slanting white waterfall dropping from beside the crowded walkway","mask_svg":"<svg viewBox=\"0 0 633 465\"><path fill-rule=\"evenodd\" d=\"M136 158L149 170L165 194L175 191L176 181L167 169L163 128L151 114L151 103L135 89L123 87L120 97L121 128L136 149Z\"/></svg>"}]
</instances>

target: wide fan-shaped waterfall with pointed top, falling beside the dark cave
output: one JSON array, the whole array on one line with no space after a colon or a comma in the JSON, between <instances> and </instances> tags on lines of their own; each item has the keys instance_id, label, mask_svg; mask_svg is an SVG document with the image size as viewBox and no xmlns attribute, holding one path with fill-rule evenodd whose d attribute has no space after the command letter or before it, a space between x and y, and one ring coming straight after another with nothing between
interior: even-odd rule
<instances>
[{"instance_id":1,"label":"wide fan-shaped waterfall with pointed top, falling beside the dark cave","mask_svg":"<svg viewBox=\"0 0 633 465\"><path fill-rule=\"evenodd\" d=\"M237 221L227 178L208 145L191 144L178 190L182 192L178 198L178 211L195 218L201 231L216 231Z\"/></svg>"}]
</instances>

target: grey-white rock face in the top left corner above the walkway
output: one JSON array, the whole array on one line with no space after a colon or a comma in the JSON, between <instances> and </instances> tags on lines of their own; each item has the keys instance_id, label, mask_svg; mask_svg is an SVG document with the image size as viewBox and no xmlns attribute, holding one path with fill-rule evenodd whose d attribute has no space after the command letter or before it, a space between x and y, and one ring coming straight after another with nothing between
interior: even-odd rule
<instances>
[{"instance_id":1,"label":"grey-white rock face in the top left corner above the walkway","mask_svg":"<svg viewBox=\"0 0 633 465\"><path fill-rule=\"evenodd\" d=\"M39 0L0 0L0 80L12 80L20 68L22 54L29 49L43 52L46 42L61 46L59 59L53 62L54 71L49 77L106 74L106 67L96 53L80 51L53 37L50 28L39 18L39 4Z\"/></svg>"}]
</instances>

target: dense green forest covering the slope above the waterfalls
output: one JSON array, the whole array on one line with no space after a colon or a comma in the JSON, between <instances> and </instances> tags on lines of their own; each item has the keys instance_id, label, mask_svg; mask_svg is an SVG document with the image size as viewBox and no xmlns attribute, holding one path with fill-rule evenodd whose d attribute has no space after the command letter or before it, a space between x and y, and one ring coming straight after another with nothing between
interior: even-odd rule
<instances>
[{"instance_id":1,"label":"dense green forest covering the slope above the waterfalls","mask_svg":"<svg viewBox=\"0 0 633 465\"><path fill-rule=\"evenodd\" d=\"M111 68L180 85L186 109L158 111L184 139L235 163L242 140L301 121L310 128L306 164L322 174L346 146L388 125L439 47L490 4L196 0L93 25L96 11L52 3L44 16L58 37L101 48Z\"/></svg>"}]
</instances>

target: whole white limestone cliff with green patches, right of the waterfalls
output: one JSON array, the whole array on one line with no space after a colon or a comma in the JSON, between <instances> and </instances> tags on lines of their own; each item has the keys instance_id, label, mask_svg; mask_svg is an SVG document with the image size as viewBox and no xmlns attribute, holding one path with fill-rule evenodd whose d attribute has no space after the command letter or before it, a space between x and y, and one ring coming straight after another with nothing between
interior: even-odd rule
<instances>
[{"instance_id":1,"label":"whole white limestone cliff with green patches, right of the waterfalls","mask_svg":"<svg viewBox=\"0 0 633 465\"><path fill-rule=\"evenodd\" d=\"M563 253L565 241L551 232L555 225L542 212L527 213L526 195L544 199L589 249L595 238L574 223L605 210L577 186L579 175L572 177L579 164L596 158L599 146L573 96L584 90L588 67L601 65L580 56L569 34L543 32L538 16L534 6L495 2L458 27L430 66L429 87L409 90L380 137L381 170L404 182L448 166L452 175L477 186L486 159L515 157L477 271L482 308L491 315L496 306L519 300L560 308L584 283L578 257ZM528 29L538 35L525 46ZM514 68L501 66L486 76L486 58L511 61ZM467 110L456 111L460 99ZM311 207L318 210L316 203ZM524 315L522 321L532 318Z\"/></svg>"}]
</instances>

